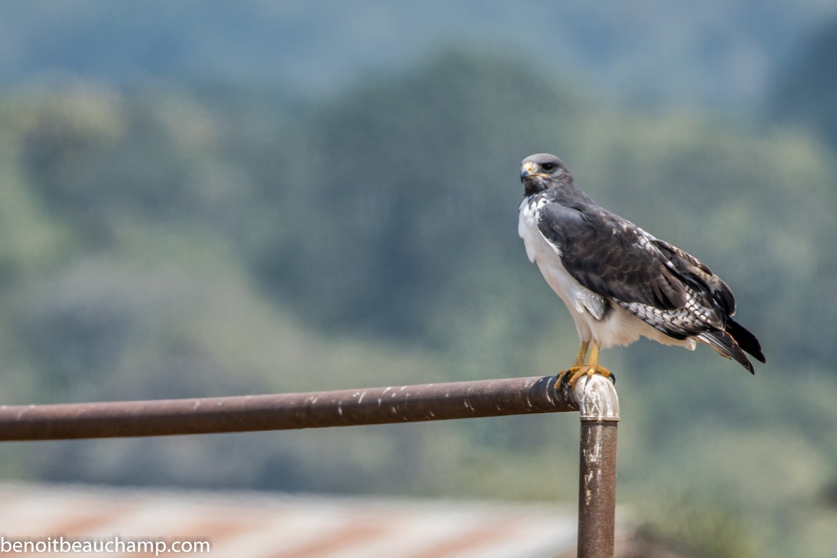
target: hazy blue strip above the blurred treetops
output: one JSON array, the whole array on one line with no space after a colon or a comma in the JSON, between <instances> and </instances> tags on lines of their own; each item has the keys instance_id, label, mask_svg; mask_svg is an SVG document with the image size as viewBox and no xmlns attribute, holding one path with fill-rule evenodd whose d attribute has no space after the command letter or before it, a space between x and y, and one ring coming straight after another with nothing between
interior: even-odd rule
<instances>
[{"instance_id":1,"label":"hazy blue strip above the blurred treetops","mask_svg":"<svg viewBox=\"0 0 837 558\"><path fill-rule=\"evenodd\" d=\"M239 80L310 95L472 44L618 100L747 107L829 17L825 0L12 0L0 80Z\"/></svg>"}]
</instances>

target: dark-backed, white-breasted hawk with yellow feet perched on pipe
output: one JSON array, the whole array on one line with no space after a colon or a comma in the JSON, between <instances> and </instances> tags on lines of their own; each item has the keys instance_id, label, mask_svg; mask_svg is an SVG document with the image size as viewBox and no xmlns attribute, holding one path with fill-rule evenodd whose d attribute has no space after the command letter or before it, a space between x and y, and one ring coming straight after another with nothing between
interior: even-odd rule
<instances>
[{"instance_id":1,"label":"dark-backed, white-breasted hawk with yellow feet perched on pipe","mask_svg":"<svg viewBox=\"0 0 837 558\"><path fill-rule=\"evenodd\" d=\"M526 255L567 305L581 339L558 384L610 376L599 351L640 335L690 350L707 343L751 373L745 352L765 361L756 336L732 320L732 290L694 256L593 202L557 156L526 157L521 182L517 231Z\"/></svg>"}]
</instances>

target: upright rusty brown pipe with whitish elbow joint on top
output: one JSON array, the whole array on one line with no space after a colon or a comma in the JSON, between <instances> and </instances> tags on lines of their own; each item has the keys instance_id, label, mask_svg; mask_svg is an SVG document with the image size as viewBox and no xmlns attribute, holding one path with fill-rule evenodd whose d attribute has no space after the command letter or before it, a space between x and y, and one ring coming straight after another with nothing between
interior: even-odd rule
<instances>
[{"instance_id":1,"label":"upright rusty brown pipe with whitish elbow joint on top","mask_svg":"<svg viewBox=\"0 0 837 558\"><path fill-rule=\"evenodd\" d=\"M581 412L578 558L613 558L619 398L613 382L599 374L581 377L575 397Z\"/></svg>"}]
</instances>

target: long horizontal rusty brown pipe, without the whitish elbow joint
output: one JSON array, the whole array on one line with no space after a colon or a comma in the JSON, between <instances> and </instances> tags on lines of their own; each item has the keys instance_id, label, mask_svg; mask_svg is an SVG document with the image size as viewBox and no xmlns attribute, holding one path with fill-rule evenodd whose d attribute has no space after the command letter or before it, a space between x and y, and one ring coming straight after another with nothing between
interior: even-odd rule
<instances>
[{"instance_id":1,"label":"long horizontal rusty brown pipe, without the whitish elbow joint","mask_svg":"<svg viewBox=\"0 0 837 558\"><path fill-rule=\"evenodd\" d=\"M290 430L578 411L556 376L336 392L0 407L0 441ZM569 396L572 397L572 396Z\"/></svg>"}]
</instances>

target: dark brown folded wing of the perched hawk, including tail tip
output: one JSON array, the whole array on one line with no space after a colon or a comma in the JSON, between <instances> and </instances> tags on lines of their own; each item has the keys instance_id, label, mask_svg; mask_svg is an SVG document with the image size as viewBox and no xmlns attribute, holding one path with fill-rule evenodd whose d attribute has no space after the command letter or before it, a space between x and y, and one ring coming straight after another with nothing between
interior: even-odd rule
<instances>
[{"instance_id":1,"label":"dark brown folded wing of the perched hawk, including tail tip","mask_svg":"<svg viewBox=\"0 0 837 558\"><path fill-rule=\"evenodd\" d=\"M657 330L697 335L749 371L744 351L765 360L756 336L732 320L732 289L690 253L598 206L547 203L538 229L578 283Z\"/></svg>"}]
</instances>

